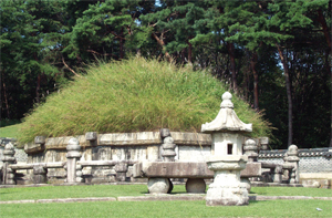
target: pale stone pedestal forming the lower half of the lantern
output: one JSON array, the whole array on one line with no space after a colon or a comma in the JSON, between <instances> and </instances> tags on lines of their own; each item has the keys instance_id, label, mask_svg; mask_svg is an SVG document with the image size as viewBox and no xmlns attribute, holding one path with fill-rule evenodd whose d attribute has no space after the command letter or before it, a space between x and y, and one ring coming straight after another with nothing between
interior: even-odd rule
<instances>
[{"instance_id":1,"label":"pale stone pedestal forming the lower half of the lantern","mask_svg":"<svg viewBox=\"0 0 332 218\"><path fill-rule=\"evenodd\" d=\"M240 181L240 170L246 168L247 156L211 156L208 168L215 172L214 183L206 195L207 206L240 206L249 204L247 184Z\"/></svg>"}]
</instances>

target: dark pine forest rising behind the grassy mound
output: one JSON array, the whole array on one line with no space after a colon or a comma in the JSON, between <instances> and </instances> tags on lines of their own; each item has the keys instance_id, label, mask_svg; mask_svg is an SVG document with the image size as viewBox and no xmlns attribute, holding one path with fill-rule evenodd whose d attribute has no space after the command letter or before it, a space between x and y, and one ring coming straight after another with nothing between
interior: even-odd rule
<instances>
[{"instance_id":1,"label":"dark pine forest rising behind the grassy mound","mask_svg":"<svg viewBox=\"0 0 332 218\"><path fill-rule=\"evenodd\" d=\"M273 148L332 146L331 0L2 0L1 125L97 60L207 70L264 113Z\"/></svg>"}]
</instances>

